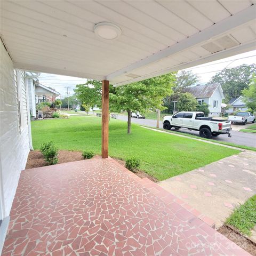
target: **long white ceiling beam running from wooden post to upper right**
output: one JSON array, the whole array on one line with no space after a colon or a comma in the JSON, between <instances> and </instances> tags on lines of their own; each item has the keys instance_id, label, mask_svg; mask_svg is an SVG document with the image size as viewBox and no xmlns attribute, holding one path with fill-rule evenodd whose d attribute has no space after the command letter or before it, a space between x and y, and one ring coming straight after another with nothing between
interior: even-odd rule
<instances>
[{"instance_id":1,"label":"long white ceiling beam running from wooden post to upper right","mask_svg":"<svg viewBox=\"0 0 256 256\"><path fill-rule=\"evenodd\" d=\"M255 19L255 12L256 5L251 5L247 9L238 12L218 23L215 23L211 27L200 31L199 33L192 35L173 46L167 47L166 49L159 51L153 55L150 55L145 59L134 62L130 66L127 66L118 71L115 71L112 74L109 74L106 79L111 81L111 79L117 76L129 73L134 69L149 65L150 63L169 57L170 55L173 55L182 50L189 49L190 47L193 47L197 44L201 44L211 39L212 37L221 35L223 33L227 33L228 30L241 26L244 23L250 22L253 19Z\"/></svg>"}]
</instances>

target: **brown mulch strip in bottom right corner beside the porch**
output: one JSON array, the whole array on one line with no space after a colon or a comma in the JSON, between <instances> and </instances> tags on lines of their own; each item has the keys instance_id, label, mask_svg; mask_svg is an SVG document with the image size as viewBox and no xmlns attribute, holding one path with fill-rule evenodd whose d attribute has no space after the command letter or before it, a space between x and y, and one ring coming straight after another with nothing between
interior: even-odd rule
<instances>
[{"instance_id":1,"label":"brown mulch strip in bottom right corner beside the porch","mask_svg":"<svg viewBox=\"0 0 256 256\"><path fill-rule=\"evenodd\" d=\"M218 229L219 233L226 236L229 240L233 241L235 244L243 248L246 252L249 252L253 256L256 256L256 244L250 239L239 233L239 231L223 225Z\"/></svg>"}]
</instances>

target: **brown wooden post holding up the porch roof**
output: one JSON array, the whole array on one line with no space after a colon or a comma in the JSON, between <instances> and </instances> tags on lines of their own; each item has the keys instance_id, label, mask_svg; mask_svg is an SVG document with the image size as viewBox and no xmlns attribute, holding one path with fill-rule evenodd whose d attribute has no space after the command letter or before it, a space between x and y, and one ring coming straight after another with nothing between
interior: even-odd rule
<instances>
[{"instance_id":1,"label":"brown wooden post holding up the porch roof","mask_svg":"<svg viewBox=\"0 0 256 256\"><path fill-rule=\"evenodd\" d=\"M108 157L109 81L102 81L101 157Z\"/></svg>"}]
</instances>

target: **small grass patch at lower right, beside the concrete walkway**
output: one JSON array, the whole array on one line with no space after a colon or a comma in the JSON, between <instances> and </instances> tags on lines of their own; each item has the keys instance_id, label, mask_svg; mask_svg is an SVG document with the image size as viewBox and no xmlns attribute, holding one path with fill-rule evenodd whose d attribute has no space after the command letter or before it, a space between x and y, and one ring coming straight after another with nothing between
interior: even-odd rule
<instances>
[{"instance_id":1,"label":"small grass patch at lower right, beside the concrete walkway","mask_svg":"<svg viewBox=\"0 0 256 256\"><path fill-rule=\"evenodd\" d=\"M244 235L250 236L252 228L256 225L256 195L237 207L226 223L237 228Z\"/></svg>"}]
</instances>

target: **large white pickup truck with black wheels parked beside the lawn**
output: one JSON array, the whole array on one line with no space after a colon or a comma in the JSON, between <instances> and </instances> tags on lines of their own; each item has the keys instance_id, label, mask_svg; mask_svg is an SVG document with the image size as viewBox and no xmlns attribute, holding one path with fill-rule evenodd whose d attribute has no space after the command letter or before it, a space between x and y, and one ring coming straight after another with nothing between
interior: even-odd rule
<instances>
[{"instance_id":1,"label":"large white pickup truck with black wheels parked beside the lawn","mask_svg":"<svg viewBox=\"0 0 256 256\"><path fill-rule=\"evenodd\" d=\"M231 137L230 131L232 130L230 121L205 117L203 112L184 111L173 116L165 116L163 124L166 130L172 127L176 130L184 127L188 130L199 131L200 137L207 139L220 134L228 134L228 137Z\"/></svg>"}]
</instances>

